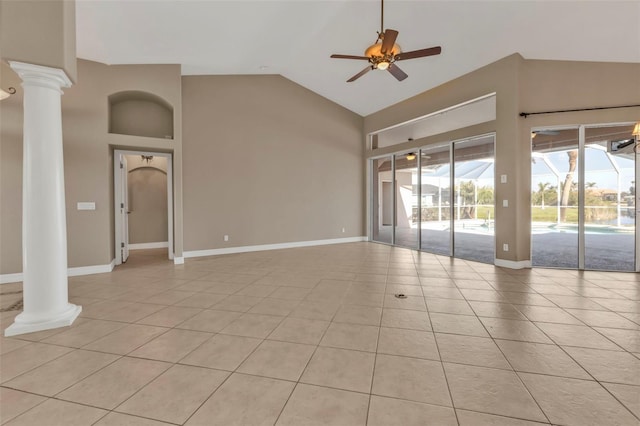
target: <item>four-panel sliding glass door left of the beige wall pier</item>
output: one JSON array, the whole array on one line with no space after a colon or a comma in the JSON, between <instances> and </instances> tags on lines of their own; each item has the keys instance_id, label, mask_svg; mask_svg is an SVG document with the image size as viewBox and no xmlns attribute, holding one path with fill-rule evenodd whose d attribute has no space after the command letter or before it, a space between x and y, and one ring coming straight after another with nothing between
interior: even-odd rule
<instances>
[{"instance_id":1,"label":"four-panel sliding glass door left of the beige wall pier","mask_svg":"<svg viewBox=\"0 0 640 426\"><path fill-rule=\"evenodd\" d=\"M373 241L494 263L494 139L371 160Z\"/></svg>"}]
</instances>

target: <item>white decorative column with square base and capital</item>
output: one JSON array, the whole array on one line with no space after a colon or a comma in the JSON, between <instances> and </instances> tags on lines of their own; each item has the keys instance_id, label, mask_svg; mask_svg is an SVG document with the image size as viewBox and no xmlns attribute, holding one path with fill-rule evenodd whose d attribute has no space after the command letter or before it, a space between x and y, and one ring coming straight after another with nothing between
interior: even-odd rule
<instances>
[{"instance_id":1,"label":"white decorative column with square base and capital","mask_svg":"<svg viewBox=\"0 0 640 426\"><path fill-rule=\"evenodd\" d=\"M22 273L24 310L5 336L68 326L82 311L69 303L62 156L61 69L10 62L24 88Z\"/></svg>"}]
</instances>

